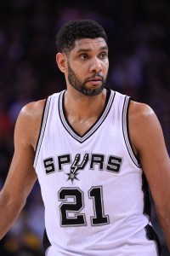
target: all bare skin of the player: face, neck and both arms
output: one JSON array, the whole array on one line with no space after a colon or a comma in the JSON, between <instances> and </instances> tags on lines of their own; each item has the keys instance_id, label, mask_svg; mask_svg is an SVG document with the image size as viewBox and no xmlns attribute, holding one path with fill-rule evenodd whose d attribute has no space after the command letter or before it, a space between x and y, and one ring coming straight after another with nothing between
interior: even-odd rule
<instances>
[{"instance_id":1,"label":"all bare skin of the player: face, neck and both arms","mask_svg":"<svg viewBox=\"0 0 170 256\"><path fill-rule=\"evenodd\" d=\"M106 90L102 89L108 73L108 49L103 38L77 40L70 55L56 55L58 67L65 74L65 115L78 134L83 135L94 125L105 108ZM71 71L74 82L69 79ZM96 79L98 76L102 79ZM75 80L76 79L76 80ZM88 96L80 88L83 84ZM79 90L78 90L79 89ZM100 90L101 89L101 90ZM98 91L94 96L94 91ZM14 131L14 158L7 180L0 193L0 238L14 224L26 204L37 175L32 167L40 130L44 101L31 102L24 107ZM170 160L164 143L161 125L153 110L139 102L131 102L129 134L135 154L139 156L147 177L161 228L170 250ZM138 125L137 125L138 124Z\"/></svg>"}]
</instances>

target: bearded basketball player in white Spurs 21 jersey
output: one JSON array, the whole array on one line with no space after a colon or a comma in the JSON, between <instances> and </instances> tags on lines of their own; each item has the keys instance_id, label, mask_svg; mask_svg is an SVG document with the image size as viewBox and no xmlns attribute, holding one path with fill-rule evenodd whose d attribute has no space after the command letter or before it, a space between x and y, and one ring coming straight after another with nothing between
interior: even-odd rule
<instances>
[{"instance_id":1,"label":"bearded basketball player in white Spurs 21 jersey","mask_svg":"<svg viewBox=\"0 0 170 256\"><path fill-rule=\"evenodd\" d=\"M20 112L0 236L38 178L47 256L161 255L150 192L170 248L170 162L156 114L106 87L107 38L94 20L66 23L57 46L66 90Z\"/></svg>"}]
</instances>

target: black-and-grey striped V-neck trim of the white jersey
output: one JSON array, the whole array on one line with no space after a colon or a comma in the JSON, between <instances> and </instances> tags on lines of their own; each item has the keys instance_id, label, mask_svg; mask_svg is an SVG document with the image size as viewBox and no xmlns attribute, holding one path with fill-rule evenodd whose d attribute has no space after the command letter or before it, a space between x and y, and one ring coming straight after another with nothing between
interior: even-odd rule
<instances>
[{"instance_id":1,"label":"black-and-grey striped V-neck trim of the white jersey","mask_svg":"<svg viewBox=\"0 0 170 256\"><path fill-rule=\"evenodd\" d=\"M65 127L65 130L77 140L79 143L84 143L89 137L91 137L96 130L98 130L99 126L102 125L108 113L110 113L112 103L114 101L116 92L112 91L109 88L105 88L107 90L106 99L105 99L105 108L102 113L99 115L99 118L96 120L94 125L92 125L88 131L86 131L82 136L80 136L77 131L75 131L72 126L69 124L65 117L64 111L64 95L65 91L59 95L59 118L61 120L62 125ZM107 109L108 108L108 109ZM103 119L102 119L103 118Z\"/></svg>"}]
</instances>

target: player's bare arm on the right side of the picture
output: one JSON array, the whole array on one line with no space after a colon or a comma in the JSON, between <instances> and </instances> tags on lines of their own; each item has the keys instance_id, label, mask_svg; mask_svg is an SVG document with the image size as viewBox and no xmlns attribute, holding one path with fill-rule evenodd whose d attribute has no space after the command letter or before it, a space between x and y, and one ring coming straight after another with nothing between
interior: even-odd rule
<instances>
[{"instance_id":1,"label":"player's bare arm on the right side of the picture","mask_svg":"<svg viewBox=\"0 0 170 256\"><path fill-rule=\"evenodd\" d=\"M150 186L156 214L170 250L170 160L161 125L153 110L144 104L131 102L129 131L133 148Z\"/></svg>"}]
</instances>

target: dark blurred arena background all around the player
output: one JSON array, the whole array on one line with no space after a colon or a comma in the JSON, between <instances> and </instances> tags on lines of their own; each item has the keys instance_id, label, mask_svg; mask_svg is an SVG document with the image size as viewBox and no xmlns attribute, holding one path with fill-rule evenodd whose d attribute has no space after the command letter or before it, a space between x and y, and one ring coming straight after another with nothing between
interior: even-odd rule
<instances>
[{"instance_id":1,"label":"dark blurred arena background all around the player","mask_svg":"<svg viewBox=\"0 0 170 256\"><path fill-rule=\"evenodd\" d=\"M14 152L14 123L27 102L65 89L55 37L68 20L97 20L108 34L108 86L154 109L170 153L170 1L0 0L0 188ZM155 208L153 224L167 256ZM43 206L36 183L1 256L42 256Z\"/></svg>"}]
</instances>

